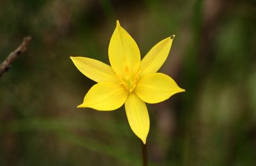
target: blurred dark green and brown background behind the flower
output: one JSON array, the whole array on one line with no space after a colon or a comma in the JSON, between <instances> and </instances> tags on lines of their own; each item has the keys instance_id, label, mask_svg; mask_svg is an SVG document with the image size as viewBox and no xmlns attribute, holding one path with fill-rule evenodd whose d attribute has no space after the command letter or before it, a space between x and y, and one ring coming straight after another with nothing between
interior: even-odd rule
<instances>
[{"instance_id":1,"label":"blurred dark green and brown background behind the flower","mask_svg":"<svg viewBox=\"0 0 256 166\"><path fill-rule=\"evenodd\" d=\"M95 84L70 56L109 64L116 20L141 56L175 34L161 68L186 93L148 105L150 165L256 165L256 2L0 0L0 165L141 165L124 108L76 109Z\"/></svg>"}]
</instances>

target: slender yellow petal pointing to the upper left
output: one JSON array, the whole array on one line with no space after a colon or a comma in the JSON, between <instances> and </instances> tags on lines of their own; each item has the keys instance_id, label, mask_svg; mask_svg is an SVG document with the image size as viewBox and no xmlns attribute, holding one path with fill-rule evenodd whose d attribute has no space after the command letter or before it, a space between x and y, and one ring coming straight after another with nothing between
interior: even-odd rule
<instances>
[{"instance_id":1,"label":"slender yellow petal pointing to the upper left","mask_svg":"<svg viewBox=\"0 0 256 166\"><path fill-rule=\"evenodd\" d=\"M108 64L88 57L70 57L77 67L89 79L95 82L116 82L115 72Z\"/></svg>"}]
</instances>

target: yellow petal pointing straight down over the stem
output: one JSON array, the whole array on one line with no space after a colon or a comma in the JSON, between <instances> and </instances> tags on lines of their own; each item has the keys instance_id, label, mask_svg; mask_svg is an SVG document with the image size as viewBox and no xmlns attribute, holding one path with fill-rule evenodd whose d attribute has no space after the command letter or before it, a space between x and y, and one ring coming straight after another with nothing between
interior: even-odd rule
<instances>
[{"instance_id":1,"label":"yellow petal pointing straight down over the stem","mask_svg":"<svg viewBox=\"0 0 256 166\"><path fill-rule=\"evenodd\" d=\"M132 131L146 144L149 117L146 104L134 93L125 102L125 112Z\"/></svg>"}]
</instances>

